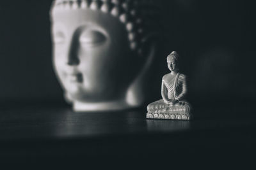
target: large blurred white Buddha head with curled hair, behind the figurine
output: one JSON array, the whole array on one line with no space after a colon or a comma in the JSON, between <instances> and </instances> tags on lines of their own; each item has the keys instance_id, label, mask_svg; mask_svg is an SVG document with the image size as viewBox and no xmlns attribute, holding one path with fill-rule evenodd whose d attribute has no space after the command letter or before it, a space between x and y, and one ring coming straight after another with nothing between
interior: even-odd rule
<instances>
[{"instance_id":1,"label":"large blurred white Buddha head with curled hair, behind the figurine","mask_svg":"<svg viewBox=\"0 0 256 170\"><path fill-rule=\"evenodd\" d=\"M75 111L143 103L143 79L156 51L156 16L148 0L53 2L54 71Z\"/></svg>"}]
</instances>

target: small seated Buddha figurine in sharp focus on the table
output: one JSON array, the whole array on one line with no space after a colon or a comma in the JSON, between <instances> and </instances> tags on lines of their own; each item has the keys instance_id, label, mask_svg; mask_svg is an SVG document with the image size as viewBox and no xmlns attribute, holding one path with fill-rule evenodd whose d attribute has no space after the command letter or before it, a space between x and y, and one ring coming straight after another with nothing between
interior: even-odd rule
<instances>
[{"instance_id":1,"label":"small seated Buddha figurine in sharp focus on the table","mask_svg":"<svg viewBox=\"0 0 256 170\"><path fill-rule=\"evenodd\" d=\"M179 54L172 52L167 57L168 68L171 73L162 79L161 95L163 99L147 106L147 118L189 120L191 106L184 100L186 96L186 76L179 73Z\"/></svg>"}]
</instances>

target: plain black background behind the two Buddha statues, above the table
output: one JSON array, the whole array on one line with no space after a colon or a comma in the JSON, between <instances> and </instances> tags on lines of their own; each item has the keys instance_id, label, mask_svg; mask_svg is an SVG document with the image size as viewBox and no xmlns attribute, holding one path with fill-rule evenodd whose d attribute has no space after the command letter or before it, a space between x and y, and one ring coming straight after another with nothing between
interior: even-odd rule
<instances>
[{"instance_id":1,"label":"plain black background behind the two Buddha statues, above the table","mask_svg":"<svg viewBox=\"0 0 256 170\"><path fill-rule=\"evenodd\" d=\"M51 3L1 2L1 103L64 103L52 69ZM159 72L168 73L166 56L177 50L184 59L182 71L189 76L191 103L253 101L255 3L166 0L163 4L164 41L157 55ZM158 99L160 82L156 89Z\"/></svg>"}]
</instances>

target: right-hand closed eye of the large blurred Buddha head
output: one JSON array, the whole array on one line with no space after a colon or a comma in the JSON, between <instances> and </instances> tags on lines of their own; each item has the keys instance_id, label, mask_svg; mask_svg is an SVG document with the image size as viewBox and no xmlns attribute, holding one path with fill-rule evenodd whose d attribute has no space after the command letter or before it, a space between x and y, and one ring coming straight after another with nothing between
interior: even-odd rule
<instances>
[{"instance_id":1,"label":"right-hand closed eye of the large blurred Buddha head","mask_svg":"<svg viewBox=\"0 0 256 170\"><path fill-rule=\"evenodd\" d=\"M106 36L99 31L84 31L79 38L79 42L82 45L88 46L100 45L105 41Z\"/></svg>"}]
</instances>

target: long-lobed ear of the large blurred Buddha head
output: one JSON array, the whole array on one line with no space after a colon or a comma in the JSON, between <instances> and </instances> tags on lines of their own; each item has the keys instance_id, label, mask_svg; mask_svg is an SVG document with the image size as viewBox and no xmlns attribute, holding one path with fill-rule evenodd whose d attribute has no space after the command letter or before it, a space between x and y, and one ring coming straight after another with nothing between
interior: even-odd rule
<instances>
[{"instance_id":1,"label":"long-lobed ear of the large blurred Buddha head","mask_svg":"<svg viewBox=\"0 0 256 170\"><path fill-rule=\"evenodd\" d=\"M148 95L150 95L148 79L150 76L150 67L152 67L154 57L156 57L157 41L157 34L150 34L143 38L140 48L140 57L143 64L140 73L131 87L129 87L126 96L127 103L131 106L141 106L147 100Z\"/></svg>"}]
</instances>

